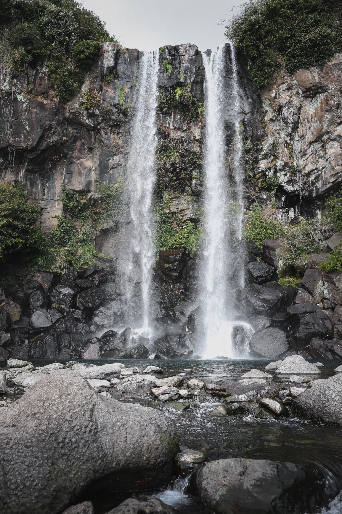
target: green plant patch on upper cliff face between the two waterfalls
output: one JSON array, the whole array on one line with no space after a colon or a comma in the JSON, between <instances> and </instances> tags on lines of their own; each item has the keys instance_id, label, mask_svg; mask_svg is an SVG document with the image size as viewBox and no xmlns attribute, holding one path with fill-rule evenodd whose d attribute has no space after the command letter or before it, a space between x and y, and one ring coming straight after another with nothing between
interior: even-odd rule
<instances>
[{"instance_id":1,"label":"green plant patch on upper cliff face between the two waterfalls","mask_svg":"<svg viewBox=\"0 0 342 514\"><path fill-rule=\"evenodd\" d=\"M190 88L191 84L188 84L183 87L177 86L175 89L166 87L160 91L160 111L169 112L178 107L179 111L188 121L202 120L204 105L192 95Z\"/></svg>"}]
</instances>

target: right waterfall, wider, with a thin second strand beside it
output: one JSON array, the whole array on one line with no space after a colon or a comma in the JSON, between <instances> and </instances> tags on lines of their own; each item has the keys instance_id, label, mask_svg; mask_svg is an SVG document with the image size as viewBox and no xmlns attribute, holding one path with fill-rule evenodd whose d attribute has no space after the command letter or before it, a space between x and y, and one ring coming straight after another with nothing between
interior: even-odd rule
<instances>
[{"instance_id":1,"label":"right waterfall, wider, with a thin second strand beside it","mask_svg":"<svg viewBox=\"0 0 342 514\"><path fill-rule=\"evenodd\" d=\"M202 268L205 358L237 357L233 341L239 343L239 352L245 353L252 334L248 323L237 321L242 316L238 298L244 287L242 135L232 45L230 90L225 86L226 48L221 45L210 57L203 55L206 69L206 226ZM228 116L225 105L230 109ZM226 123L226 118L232 122ZM233 127L231 155L227 149L227 126Z\"/></svg>"}]
</instances>

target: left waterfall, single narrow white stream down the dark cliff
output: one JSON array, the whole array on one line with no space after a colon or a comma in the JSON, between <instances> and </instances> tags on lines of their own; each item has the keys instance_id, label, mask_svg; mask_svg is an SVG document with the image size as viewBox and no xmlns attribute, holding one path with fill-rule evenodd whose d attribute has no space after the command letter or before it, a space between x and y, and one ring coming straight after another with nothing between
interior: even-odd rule
<instances>
[{"instance_id":1,"label":"left waterfall, single narrow white stream down the dark cliff","mask_svg":"<svg viewBox=\"0 0 342 514\"><path fill-rule=\"evenodd\" d=\"M126 203L130 223L123 237L126 247L124 276L127 318L131 324L148 327L151 268L154 241L151 201L156 178L158 51L144 52L139 62L138 90L131 127L131 145L126 172ZM128 261L128 262L127 262ZM140 289L137 294L137 287Z\"/></svg>"}]
</instances>

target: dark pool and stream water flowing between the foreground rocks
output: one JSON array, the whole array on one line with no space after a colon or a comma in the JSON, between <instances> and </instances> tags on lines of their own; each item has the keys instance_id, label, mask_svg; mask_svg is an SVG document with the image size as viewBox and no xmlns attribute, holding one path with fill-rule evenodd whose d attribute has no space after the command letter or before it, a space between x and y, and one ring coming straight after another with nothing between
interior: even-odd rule
<instances>
[{"instance_id":1,"label":"dark pool and stream water flowing between the foreground rocks","mask_svg":"<svg viewBox=\"0 0 342 514\"><path fill-rule=\"evenodd\" d=\"M104 364L103 360L84 362ZM146 360L122 362L127 367L137 366L140 370L152 364L151 361ZM263 370L269 362L269 360L159 360L153 363L163 369L164 373L159 375L160 377L186 373L185 380L190 378L227 380L238 379L253 368ZM325 367L321 370L321 374L310 375L308 377L310 380L333 375L338 362L323 361L323 363ZM35 364L38 365L38 361ZM39 361L39 365L42 365L42 361ZM191 371L188 371L189 369ZM274 372L270 373L275 376ZM275 376L275 381L283 382L284 378L278 379ZM210 416L214 406L219 405L214 398L210 403L192 402L190 409L182 412L166 409L162 402L155 402L152 398L144 398L139 400L139 403L163 410L176 425L180 448L204 450L208 453L209 460L245 457L287 461L294 464L315 463L342 478L342 427L314 423L291 416L279 417L275 420L258 420L258 425L247 426L243 421L243 417L247 415L246 412L226 417ZM208 514L210 511L189 494L189 483L189 477L184 479L175 476L166 489L149 490L139 495L155 495L182 514ZM118 495L117 493L106 494L102 491L100 494L82 499L93 501L96 514L103 514L132 495L137 495L137 492ZM318 512L342 513L341 499L337 497L327 509L321 510L317 507Z\"/></svg>"}]
</instances>

